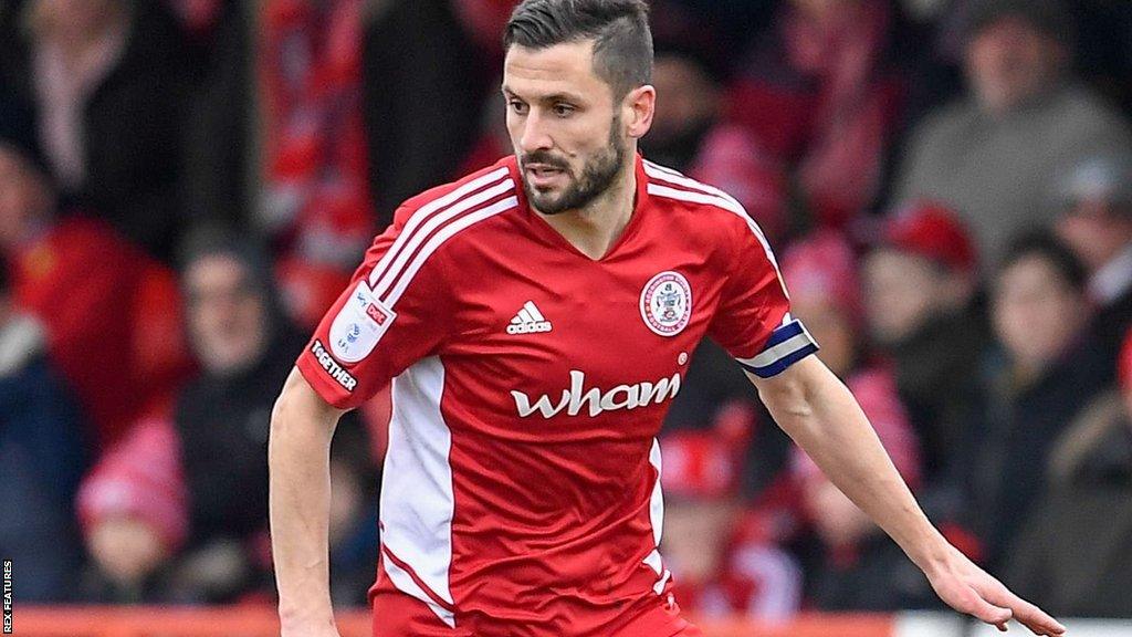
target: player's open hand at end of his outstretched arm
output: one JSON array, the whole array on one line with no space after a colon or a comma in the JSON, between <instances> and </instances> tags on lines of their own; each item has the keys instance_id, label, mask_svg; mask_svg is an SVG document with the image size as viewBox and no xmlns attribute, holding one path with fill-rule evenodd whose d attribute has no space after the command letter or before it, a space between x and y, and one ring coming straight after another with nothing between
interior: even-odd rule
<instances>
[{"instance_id":1,"label":"player's open hand at end of his outstretched arm","mask_svg":"<svg viewBox=\"0 0 1132 637\"><path fill-rule=\"evenodd\" d=\"M1065 627L1041 609L1007 589L955 549L937 564L925 569L940 598L959 612L974 615L1005 632L1013 618L1035 635L1057 637Z\"/></svg>"}]
</instances>

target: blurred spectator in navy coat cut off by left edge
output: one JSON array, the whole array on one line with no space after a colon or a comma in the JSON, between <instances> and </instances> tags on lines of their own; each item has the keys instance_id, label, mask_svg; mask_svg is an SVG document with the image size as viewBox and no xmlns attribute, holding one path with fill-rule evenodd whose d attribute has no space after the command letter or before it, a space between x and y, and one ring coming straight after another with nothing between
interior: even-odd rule
<instances>
[{"instance_id":1,"label":"blurred spectator in navy coat cut off by left edge","mask_svg":"<svg viewBox=\"0 0 1132 637\"><path fill-rule=\"evenodd\" d=\"M82 563L71 507L85 469L85 436L78 409L45 354L43 328L15 306L7 269L0 264L0 501L5 511L0 553L15 564L17 606L22 602L74 602L72 583Z\"/></svg>"}]
</instances>

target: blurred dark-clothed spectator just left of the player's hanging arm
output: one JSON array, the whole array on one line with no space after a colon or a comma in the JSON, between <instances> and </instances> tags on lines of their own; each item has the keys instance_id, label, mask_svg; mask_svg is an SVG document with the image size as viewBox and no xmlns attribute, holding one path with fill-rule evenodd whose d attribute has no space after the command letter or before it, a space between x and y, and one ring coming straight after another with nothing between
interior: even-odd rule
<instances>
[{"instance_id":1,"label":"blurred dark-clothed spectator just left of the player's hanging arm","mask_svg":"<svg viewBox=\"0 0 1132 637\"><path fill-rule=\"evenodd\" d=\"M171 579L172 594L233 601L272 587L268 425L278 388L305 339L282 313L267 263L246 241L201 235L189 248L182 272L189 336L201 373L181 390L173 411L190 504L188 540ZM348 421L340 428L355 426ZM354 475L354 466L343 465L349 470L337 477ZM355 478L354 484L365 482ZM354 521L352 509L345 508L340 524L349 527ZM342 538L351 535L338 533ZM361 567L369 569L370 580L375 563Z\"/></svg>"}]
</instances>

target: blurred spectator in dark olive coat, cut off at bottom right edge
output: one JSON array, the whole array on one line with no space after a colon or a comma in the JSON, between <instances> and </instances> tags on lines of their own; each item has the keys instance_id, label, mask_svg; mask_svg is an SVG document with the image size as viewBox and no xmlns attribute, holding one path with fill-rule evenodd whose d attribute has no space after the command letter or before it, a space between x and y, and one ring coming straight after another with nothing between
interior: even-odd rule
<instances>
[{"instance_id":1,"label":"blurred spectator in dark olive coat, cut off at bottom right edge","mask_svg":"<svg viewBox=\"0 0 1132 637\"><path fill-rule=\"evenodd\" d=\"M1006 581L1073 617L1132 617L1132 331L1120 382L1052 445L1048 489Z\"/></svg>"}]
</instances>

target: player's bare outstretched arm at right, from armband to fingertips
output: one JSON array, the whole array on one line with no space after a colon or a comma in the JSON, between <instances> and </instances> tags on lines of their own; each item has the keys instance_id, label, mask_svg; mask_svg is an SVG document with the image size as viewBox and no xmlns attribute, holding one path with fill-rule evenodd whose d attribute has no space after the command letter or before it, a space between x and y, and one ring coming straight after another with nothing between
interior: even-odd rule
<instances>
[{"instance_id":1,"label":"player's bare outstretched arm at right, from armband to fingertips","mask_svg":"<svg viewBox=\"0 0 1132 637\"><path fill-rule=\"evenodd\" d=\"M752 376L752 382L779 426L904 550L944 602L1000 630L1013 617L1035 635L1065 631L975 566L932 526L852 393L817 357L807 356L771 379Z\"/></svg>"}]
</instances>

